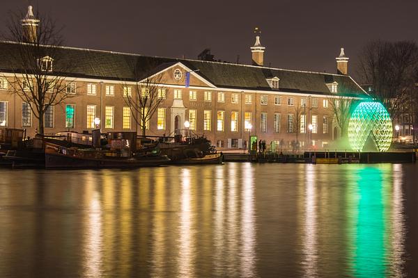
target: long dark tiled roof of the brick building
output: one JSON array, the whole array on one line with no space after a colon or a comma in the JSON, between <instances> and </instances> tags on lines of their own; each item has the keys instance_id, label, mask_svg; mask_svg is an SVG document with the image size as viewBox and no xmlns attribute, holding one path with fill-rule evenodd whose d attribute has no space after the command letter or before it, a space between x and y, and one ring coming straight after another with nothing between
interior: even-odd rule
<instances>
[{"instance_id":1,"label":"long dark tiled roof of the brick building","mask_svg":"<svg viewBox=\"0 0 418 278\"><path fill-rule=\"evenodd\" d=\"M18 65L13 61L19 44L15 42L0 42L0 72L18 72ZM208 62L178 58L161 58L123 54L112 51L77 49L73 47L58 47L54 49L55 56L61 56L60 62L70 60L74 68L71 72L63 72L73 77L84 77L104 80L130 80L141 77L144 69L153 65L155 71L163 70L174 63L181 62L218 88L235 88L240 90L273 90L266 79L277 76L279 91L301 92L330 95L327 83L336 81L339 84L339 94L349 96L364 96L366 93L350 78L339 74L321 72L302 72L281 70L269 67L238 65L231 63ZM52 57L54 58L54 57ZM54 70L59 65L54 64ZM137 69L137 70L135 70ZM134 74L134 72L139 73ZM148 72L149 73L149 72ZM144 76L142 76L144 77Z\"/></svg>"}]
</instances>

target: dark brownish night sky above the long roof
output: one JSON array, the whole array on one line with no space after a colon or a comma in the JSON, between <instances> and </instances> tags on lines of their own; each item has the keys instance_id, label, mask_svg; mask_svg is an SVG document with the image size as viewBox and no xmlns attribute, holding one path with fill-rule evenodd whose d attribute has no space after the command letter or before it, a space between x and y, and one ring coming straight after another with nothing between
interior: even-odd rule
<instances>
[{"instance_id":1,"label":"dark brownish night sky above the long roof","mask_svg":"<svg viewBox=\"0 0 418 278\"><path fill-rule=\"evenodd\" d=\"M151 56L196 58L210 48L250 63L258 26L265 65L295 70L335 72L344 47L350 71L370 40L418 39L417 0L1 0L0 18L29 3L65 26L69 46Z\"/></svg>"}]
</instances>

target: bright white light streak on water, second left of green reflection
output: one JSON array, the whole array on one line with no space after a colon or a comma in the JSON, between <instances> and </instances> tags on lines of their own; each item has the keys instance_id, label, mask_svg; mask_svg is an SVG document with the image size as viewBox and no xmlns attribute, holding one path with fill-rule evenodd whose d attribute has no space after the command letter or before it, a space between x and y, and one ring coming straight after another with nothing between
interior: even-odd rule
<instances>
[{"instance_id":1,"label":"bright white light streak on water, second left of green reflection","mask_svg":"<svg viewBox=\"0 0 418 278\"><path fill-rule=\"evenodd\" d=\"M241 276L256 277L256 220L254 212L254 167L242 167Z\"/></svg>"}]
</instances>

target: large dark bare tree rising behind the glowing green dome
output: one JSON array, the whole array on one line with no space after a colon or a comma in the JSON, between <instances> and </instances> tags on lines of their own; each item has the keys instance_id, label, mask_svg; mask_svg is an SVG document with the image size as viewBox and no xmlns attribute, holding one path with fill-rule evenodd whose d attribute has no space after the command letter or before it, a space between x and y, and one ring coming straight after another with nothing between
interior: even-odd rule
<instances>
[{"instance_id":1,"label":"large dark bare tree rising behind the glowing green dome","mask_svg":"<svg viewBox=\"0 0 418 278\"><path fill-rule=\"evenodd\" d=\"M371 85L371 95L382 101L392 119L396 118L415 87L418 47L415 42L373 41L362 49L358 74Z\"/></svg>"}]
</instances>

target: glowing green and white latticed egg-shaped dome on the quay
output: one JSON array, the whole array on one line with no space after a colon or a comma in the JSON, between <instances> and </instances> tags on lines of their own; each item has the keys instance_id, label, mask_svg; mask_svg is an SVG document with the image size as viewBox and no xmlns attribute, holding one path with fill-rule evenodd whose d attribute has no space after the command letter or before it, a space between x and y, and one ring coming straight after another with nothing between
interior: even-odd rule
<instances>
[{"instance_id":1,"label":"glowing green and white latticed egg-shaped dome on the quay","mask_svg":"<svg viewBox=\"0 0 418 278\"><path fill-rule=\"evenodd\" d=\"M378 101L363 101L351 113L348 140L357 152L366 142L373 142L379 152L386 152L392 143L392 120L385 106Z\"/></svg>"}]
</instances>

